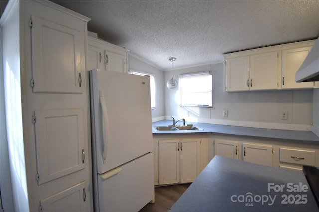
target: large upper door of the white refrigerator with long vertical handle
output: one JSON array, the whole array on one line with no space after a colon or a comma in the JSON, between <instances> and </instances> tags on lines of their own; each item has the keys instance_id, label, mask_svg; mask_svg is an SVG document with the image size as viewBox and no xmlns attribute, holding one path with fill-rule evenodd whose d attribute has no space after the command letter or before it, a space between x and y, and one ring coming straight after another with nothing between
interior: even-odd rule
<instances>
[{"instance_id":1,"label":"large upper door of the white refrigerator with long vertical handle","mask_svg":"<svg viewBox=\"0 0 319 212\"><path fill-rule=\"evenodd\" d=\"M149 77L91 70L90 82L97 173L153 151Z\"/></svg>"}]
</instances>

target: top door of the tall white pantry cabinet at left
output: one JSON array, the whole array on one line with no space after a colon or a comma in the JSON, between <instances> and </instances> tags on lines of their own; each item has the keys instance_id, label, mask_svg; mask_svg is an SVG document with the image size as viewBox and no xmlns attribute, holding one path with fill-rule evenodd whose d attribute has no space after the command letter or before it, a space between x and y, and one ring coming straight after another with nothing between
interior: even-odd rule
<instances>
[{"instance_id":1,"label":"top door of the tall white pantry cabinet at left","mask_svg":"<svg viewBox=\"0 0 319 212\"><path fill-rule=\"evenodd\" d=\"M81 93L80 32L32 16L31 36L33 92Z\"/></svg>"}]
</instances>

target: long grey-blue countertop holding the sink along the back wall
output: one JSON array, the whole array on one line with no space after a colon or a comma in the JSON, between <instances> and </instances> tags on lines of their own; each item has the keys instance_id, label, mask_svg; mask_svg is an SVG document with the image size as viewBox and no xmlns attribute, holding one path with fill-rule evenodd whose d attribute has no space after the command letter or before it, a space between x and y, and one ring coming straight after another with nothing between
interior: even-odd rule
<instances>
[{"instance_id":1,"label":"long grey-blue countertop holding the sink along the back wall","mask_svg":"<svg viewBox=\"0 0 319 212\"><path fill-rule=\"evenodd\" d=\"M235 136L252 136L261 138L272 138L281 140L290 140L309 144L319 144L319 137L311 131L296 131L296 130L276 130L265 128L252 128L252 127L239 127L231 125L218 125L218 124L206 124L206 123L193 123L187 122L187 124L193 124L193 126L200 128L201 130L176 130L176 131L157 131L156 126L168 126L171 125L171 120L162 120L152 123L153 135L175 135L175 134L188 134L188 133L210 133L210 134L227 134ZM183 124L178 122L178 124Z\"/></svg>"}]
</instances>

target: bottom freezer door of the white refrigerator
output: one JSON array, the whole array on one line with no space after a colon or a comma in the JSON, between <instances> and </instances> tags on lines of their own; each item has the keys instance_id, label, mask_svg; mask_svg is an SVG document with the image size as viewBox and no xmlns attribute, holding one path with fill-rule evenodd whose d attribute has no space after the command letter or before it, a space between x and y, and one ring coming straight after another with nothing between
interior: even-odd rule
<instances>
[{"instance_id":1,"label":"bottom freezer door of the white refrigerator","mask_svg":"<svg viewBox=\"0 0 319 212\"><path fill-rule=\"evenodd\" d=\"M113 171L110 171L113 172ZM153 152L98 175L100 212L137 212L154 200Z\"/></svg>"}]
</instances>

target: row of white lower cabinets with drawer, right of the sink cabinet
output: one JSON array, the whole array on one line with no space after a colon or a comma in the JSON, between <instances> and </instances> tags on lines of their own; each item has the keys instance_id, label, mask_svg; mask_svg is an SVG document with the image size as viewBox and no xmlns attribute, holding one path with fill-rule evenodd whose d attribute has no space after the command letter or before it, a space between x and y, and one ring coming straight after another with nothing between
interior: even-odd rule
<instances>
[{"instance_id":1,"label":"row of white lower cabinets with drawer, right of the sink cabinet","mask_svg":"<svg viewBox=\"0 0 319 212\"><path fill-rule=\"evenodd\" d=\"M213 156L220 155L294 171L302 171L303 165L319 167L318 144L226 134L211 135L209 140L211 141L207 145L209 161Z\"/></svg>"}]
</instances>

